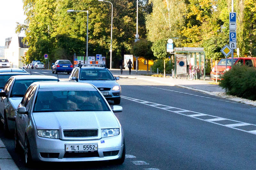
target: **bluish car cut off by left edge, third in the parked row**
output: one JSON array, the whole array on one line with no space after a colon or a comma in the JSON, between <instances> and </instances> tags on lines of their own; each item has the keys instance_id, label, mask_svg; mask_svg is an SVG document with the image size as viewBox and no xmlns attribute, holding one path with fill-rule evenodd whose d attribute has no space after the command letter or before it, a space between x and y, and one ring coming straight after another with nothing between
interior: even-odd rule
<instances>
[{"instance_id":1,"label":"bluish car cut off by left edge, third in the parked row","mask_svg":"<svg viewBox=\"0 0 256 170\"><path fill-rule=\"evenodd\" d=\"M17 76L17 75L30 75L30 73L28 73L24 69L16 69L16 68L0 69L0 90L3 89L5 83L10 77Z\"/></svg>"}]
</instances>

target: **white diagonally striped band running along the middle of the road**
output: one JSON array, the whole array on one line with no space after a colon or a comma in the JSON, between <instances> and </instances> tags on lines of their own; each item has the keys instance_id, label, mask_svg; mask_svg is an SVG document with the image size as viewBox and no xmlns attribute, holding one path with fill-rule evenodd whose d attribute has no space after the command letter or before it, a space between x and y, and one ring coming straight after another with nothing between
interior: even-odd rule
<instances>
[{"instance_id":1,"label":"white diagonally striped band running along the middle of the road","mask_svg":"<svg viewBox=\"0 0 256 170\"><path fill-rule=\"evenodd\" d=\"M177 108L177 107L172 107L172 106L166 106L166 105L162 105L162 104L158 104L158 103L153 103L153 102L149 102L149 101L145 101L145 100L141 100L141 99L134 99L131 97L126 97L126 96L122 96L123 99L126 100L131 100L140 104L144 104L147 106L151 106L151 107L156 107L168 112L172 112L172 113L176 113L179 115L184 115L187 117L191 117L194 119L198 119L204 122L210 122L213 124L217 124L220 126L225 126L231 129L236 129L236 130L240 130L243 132L247 132L247 133L251 133L251 134L256 134L256 125L255 124L251 124L251 123L245 123L245 122L240 122L240 121L236 121L236 120L231 120L231 119L227 119L227 118L222 118L222 117L218 117L218 116L213 116L213 115L207 115L207 114L203 114L203 113L199 113L199 112L194 112L194 111L190 111L190 110L185 110L185 109L181 109L181 108ZM175 110L173 110L175 109ZM205 116L210 116L212 117L212 119L204 119ZM220 122L219 122L220 121ZM234 123L232 124L225 124L223 123L223 121L232 121ZM243 129L239 129L240 126L249 126L251 128L251 130L243 130ZM236 128L238 127L238 128Z\"/></svg>"}]
</instances>

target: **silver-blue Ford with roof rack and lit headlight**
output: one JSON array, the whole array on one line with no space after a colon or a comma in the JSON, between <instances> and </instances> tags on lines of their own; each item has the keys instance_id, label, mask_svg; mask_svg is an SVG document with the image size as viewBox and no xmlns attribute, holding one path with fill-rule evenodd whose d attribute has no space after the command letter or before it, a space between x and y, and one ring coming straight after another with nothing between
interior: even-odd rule
<instances>
[{"instance_id":1,"label":"silver-blue Ford with roof rack and lit headlight","mask_svg":"<svg viewBox=\"0 0 256 170\"><path fill-rule=\"evenodd\" d=\"M79 64L69 76L69 81L91 83L95 85L107 100L113 100L115 104L121 101L121 86L116 82L118 77L103 64Z\"/></svg>"}]
</instances>

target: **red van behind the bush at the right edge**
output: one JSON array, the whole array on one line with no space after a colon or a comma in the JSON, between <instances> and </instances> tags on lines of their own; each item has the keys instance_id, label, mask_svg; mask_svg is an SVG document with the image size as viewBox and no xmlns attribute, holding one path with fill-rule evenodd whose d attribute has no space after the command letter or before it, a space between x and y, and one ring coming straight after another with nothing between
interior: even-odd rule
<instances>
[{"instance_id":1,"label":"red van behind the bush at the right edge","mask_svg":"<svg viewBox=\"0 0 256 170\"><path fill-rule=\"evenodd\" d=\"M252 57L234 58L233 63L234 65L246 65L248 67L256 68L256 58L252 58ZM229 69L231 69L231 58L227 59L227 70L226 70L226 59L221 59L218 63L217 79L220 80L221 75L223 75L223 71L224 70L228 71ZM211 79L216 80L216 65L212 68Z\"/></svg>"}]
</instances>

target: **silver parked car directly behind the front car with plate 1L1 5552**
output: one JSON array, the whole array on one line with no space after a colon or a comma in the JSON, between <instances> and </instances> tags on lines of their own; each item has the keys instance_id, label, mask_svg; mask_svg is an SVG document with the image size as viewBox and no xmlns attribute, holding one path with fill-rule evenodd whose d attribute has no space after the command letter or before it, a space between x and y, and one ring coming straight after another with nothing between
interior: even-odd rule
<instances>
[{"instance_id":1,"label":"silver parked car directly behind the front car with plate 1L1 5552","mask_svg":"<svg viewBox=\"0 0 256 170\"><path fill-rule=\"evenodd\" d=\"M20 75L12 76L0 92L0 118L4 123L5 134L14 130L17 107L29 85L36 81L57 81L54 76ZM26 96L28 97L28 96Z\"/></svg>"}]
</instances>

